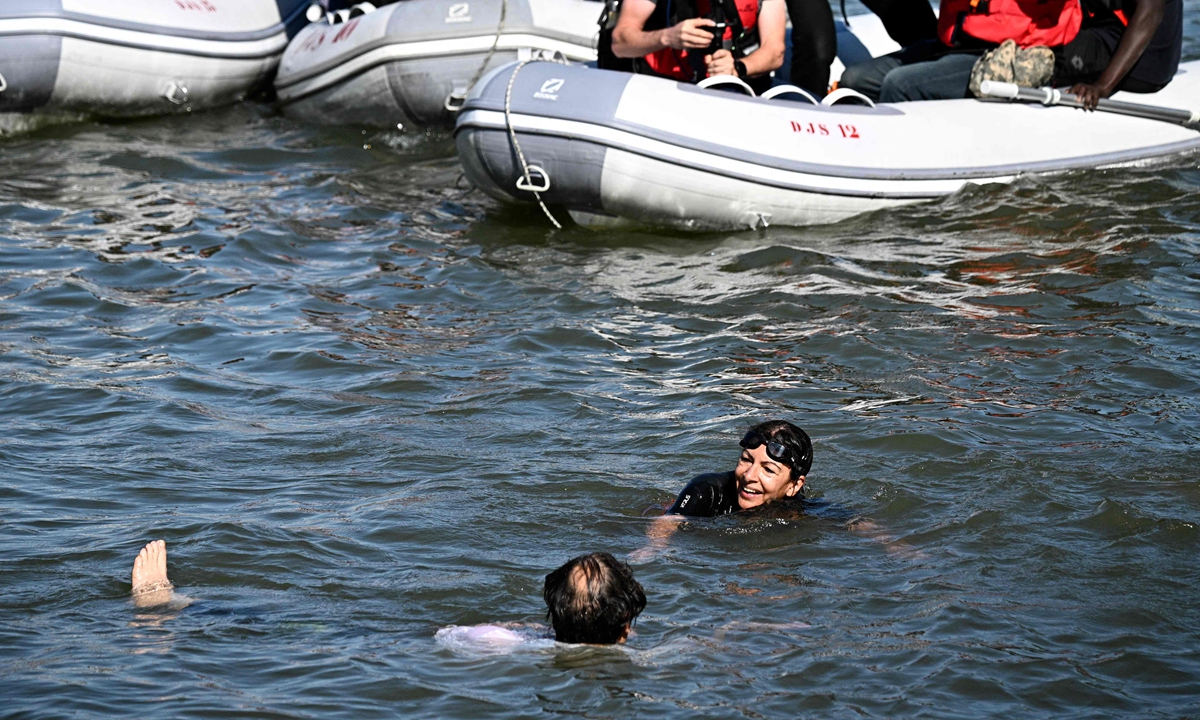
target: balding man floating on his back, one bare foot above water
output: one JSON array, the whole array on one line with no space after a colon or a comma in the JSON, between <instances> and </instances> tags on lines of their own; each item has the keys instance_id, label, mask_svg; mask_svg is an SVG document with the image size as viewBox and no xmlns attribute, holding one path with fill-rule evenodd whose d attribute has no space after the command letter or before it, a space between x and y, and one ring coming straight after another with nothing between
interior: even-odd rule
<instances>
[{"instance_id":1,"label":"balding man floating on his back, one bare foot above water","mask_svg":"<svg viewBox=\"0 0 1200 720\"><path fill-rule=\"evenodd\" d=\"M167 542L154 540L138 552L131 574L137 607L182 606L167 577ZM546 576L542 598L552 640L570 643L617 644L629 637L634 620L646 610L646 590L629 565L606 552L571 558ZM449 646L490 646L547 638L544 629L503 625L451 625L438 631Z\"/></svg>"}]
</instances>

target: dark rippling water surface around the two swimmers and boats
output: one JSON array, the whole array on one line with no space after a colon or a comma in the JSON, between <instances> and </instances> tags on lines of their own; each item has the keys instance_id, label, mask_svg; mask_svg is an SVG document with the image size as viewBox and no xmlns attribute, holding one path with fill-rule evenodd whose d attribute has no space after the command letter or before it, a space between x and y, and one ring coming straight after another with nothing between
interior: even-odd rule
<instances>
[{"instance_id":1,"label":"dark rippling water surface around the two swimmers and boats","mask_svg":"<svg viewBox=\"0 0 1200 720\"><path fill-rule=\"evenodd\" d=\"M445 137L4 140L0 715L1195 716L1198 164L551 235ZM769 416L875 530L691 523L625 650L434 642ZM154 538L191 606L130 604Z\"/></svg>"}]
</instances>

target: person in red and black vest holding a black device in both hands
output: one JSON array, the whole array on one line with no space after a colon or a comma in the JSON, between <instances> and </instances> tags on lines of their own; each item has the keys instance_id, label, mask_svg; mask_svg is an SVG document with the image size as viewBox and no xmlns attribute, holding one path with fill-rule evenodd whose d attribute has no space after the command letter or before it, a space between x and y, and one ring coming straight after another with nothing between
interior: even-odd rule
<instances>
[{"instance_id":1,"label":"person in red and black vest holding a black device in both hands","mask_svg":"<svg viewBox=\"0 0 1200 720\"><path fill-rule=\"evenodd\" d=\"M623 0L612 53L634 59L634 72L737 76L764 90L784 64L786 29L784 0Z\"/></svg>"}]
</instances>

